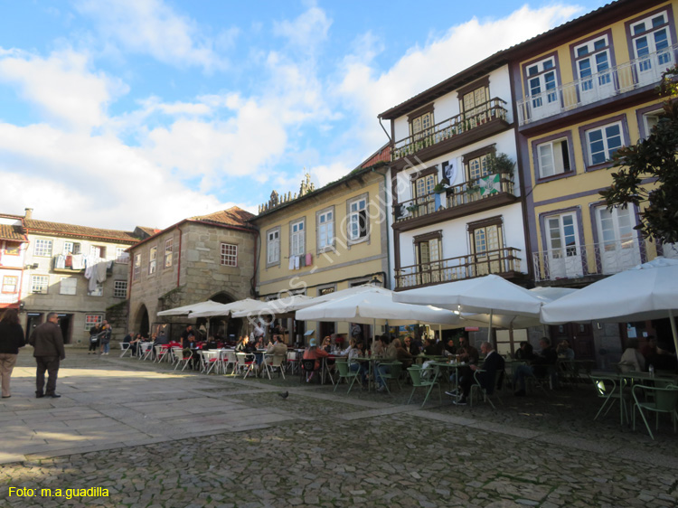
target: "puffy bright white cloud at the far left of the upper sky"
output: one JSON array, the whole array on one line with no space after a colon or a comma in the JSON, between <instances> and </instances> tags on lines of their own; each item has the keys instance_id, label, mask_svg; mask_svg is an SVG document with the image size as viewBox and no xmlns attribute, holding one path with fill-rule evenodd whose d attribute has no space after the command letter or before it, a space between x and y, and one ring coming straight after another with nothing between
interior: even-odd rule
<instances>
[{"instance_id":1,"label":"puffy bright white cloud at the far left of the upper sky","mask_svg":"<svg viewBox=\"0 0 678 508\"><path fill-rule=\"evenodd\" d=\"M127 93L127 86L104 72L89 71L87 54L53 52L48 58L24 52L0 52L0 81L63 127L100 127L108 104Z\"/></svg>"}]
</instances>

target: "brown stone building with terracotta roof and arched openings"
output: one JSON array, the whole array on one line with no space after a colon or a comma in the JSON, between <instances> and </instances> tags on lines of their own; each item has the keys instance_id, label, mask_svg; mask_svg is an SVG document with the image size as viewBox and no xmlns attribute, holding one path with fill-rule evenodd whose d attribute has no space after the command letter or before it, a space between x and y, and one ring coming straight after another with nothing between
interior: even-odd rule
<instances>
[{"instance_id":1,"label":"brown stone building with terracotta roof and arched openings","mask_svg":"<svg viewBox=\"0 0 678 508\"><path fill-rule=\"evenodd\" d=\"M234 206L184 219L130 248L128 330L150 336L165 329L176 337L186 318L158 319L158 312L252 296L259 235L248 222L252 217ZM210 329L223 336L238 334L240 320L214 318Z\"/></svg>"}]
</instances>

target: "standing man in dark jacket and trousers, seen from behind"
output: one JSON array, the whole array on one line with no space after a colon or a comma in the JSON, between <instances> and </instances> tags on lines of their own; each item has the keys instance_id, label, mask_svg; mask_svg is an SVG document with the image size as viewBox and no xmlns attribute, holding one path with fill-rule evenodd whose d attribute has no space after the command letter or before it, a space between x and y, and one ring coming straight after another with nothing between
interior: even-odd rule
<instances>
[{"instance_id":1,"label":"standing man in dark jacket and trousers, seen from behind","mask_svg":"<svg viewBox=\"0 0 678 508\"><path fill-rule=\"evenodd\" d=\"M63 351L63 336L61 328L58 325L59 316L55 312L47 315L47 322L42 323L33 330L33 334L28 339L28 343L33 346L33 356L37 363L35 373L35 397L52 397L57 399L61 397L56 390L57 372L59 372L59 361L66 358ZM47 380L47 389L44 387L44 372L47 371L49 379Z\"/></svg>"}]
</instances>

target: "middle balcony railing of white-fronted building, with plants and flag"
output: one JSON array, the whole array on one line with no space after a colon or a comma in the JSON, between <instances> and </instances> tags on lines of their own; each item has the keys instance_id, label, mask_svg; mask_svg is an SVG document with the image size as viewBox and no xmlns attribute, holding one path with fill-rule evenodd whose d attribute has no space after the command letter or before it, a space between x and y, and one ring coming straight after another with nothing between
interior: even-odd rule
<instances>
[{"instance_id":1,"label":"middle balcony railing of white-fronted building, with plants and flag","mask_svg":"<svg viewBox=\"0 0 678 508\"><path fill-rule=\"evenodd\" d=\"M443 193L430 193L400 202L393 210L394 220L410 221L429 213L491 199L499 194L513 195L513 174L495 173L447 187Z\"/></svg>"}]
</instances>

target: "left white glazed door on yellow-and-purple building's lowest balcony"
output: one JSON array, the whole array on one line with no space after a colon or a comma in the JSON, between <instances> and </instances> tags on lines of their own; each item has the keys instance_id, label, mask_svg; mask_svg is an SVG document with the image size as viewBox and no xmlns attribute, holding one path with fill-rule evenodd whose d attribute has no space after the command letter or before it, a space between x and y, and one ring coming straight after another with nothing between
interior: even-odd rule
<instances>
[{"instance_id":1,"label":"left white glazed door on yellow-and-purple building's lowest balcony","mask_svg":"<svg viewBox=\"0 0 678 508\"><path fill-rule=\"evenodd\" d=\"M548 275L551 280L583 275L581 246L576 224L577 219L574 213L564 213L546 219Z\"/></svg>"}]
</instances>

